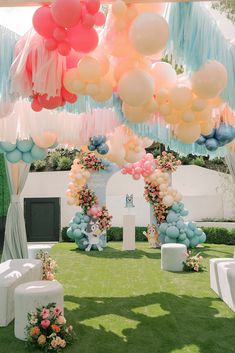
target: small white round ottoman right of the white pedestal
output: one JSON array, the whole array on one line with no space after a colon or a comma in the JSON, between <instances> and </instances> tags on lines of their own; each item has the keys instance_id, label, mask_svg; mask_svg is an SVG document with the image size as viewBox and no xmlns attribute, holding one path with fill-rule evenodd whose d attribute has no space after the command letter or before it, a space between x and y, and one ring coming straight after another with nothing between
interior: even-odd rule
<instances>
[{"instance_id":1,"label":"small white round ottoman right of the white pedestal","mask_svg":"<svg viewBox=\"0 0 235 353\"><path fill-rule=\"evenodd\" d=\"M161 269L165 271L183 271L187 247L184 244L163 244L161 247Z\"/></svg>"}]
</instances>

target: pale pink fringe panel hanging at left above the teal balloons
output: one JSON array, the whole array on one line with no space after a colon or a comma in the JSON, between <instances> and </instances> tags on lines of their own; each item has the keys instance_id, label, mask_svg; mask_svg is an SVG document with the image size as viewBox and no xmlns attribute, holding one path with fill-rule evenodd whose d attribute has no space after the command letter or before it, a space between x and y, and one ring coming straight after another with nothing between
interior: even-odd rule
<instances>
[{"instance_id":1,"label":"pale pink fringe panel hanging at left above the teal balloons","mask_svg":"<svg viewBox=\"0 0 235 353\"><path fill-rule=\"evenodd\" d=\"M46 109L36 113L28 101L20 100L8 117L0 119L0 141L14 143L17 138L25 139L49 131L57 134L58 143L80 146L87 144L94 135L113 132L119 124L111 108L78 115Z\"/></svg>"}]
</instances>

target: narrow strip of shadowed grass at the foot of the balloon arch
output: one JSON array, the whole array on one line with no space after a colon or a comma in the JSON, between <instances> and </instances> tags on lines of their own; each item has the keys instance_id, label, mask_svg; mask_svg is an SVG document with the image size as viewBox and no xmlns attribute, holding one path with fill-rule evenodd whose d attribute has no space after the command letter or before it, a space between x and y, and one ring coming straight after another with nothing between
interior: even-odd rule
<instances>
[{"instance_id":1,"label":"narrow strip of shadowed grass at the foot of the balloon arch","mask_svg":"<svg viewBox=\"0 0 235 353\"><path fill-rule=\"evenodd\" d=\"M133 250L133 251L122 251L114 249L107 246L103 251L83 251L79 249L71 249L70 251L79 252L82 256L88 257L99 257L102 259L141 259L147 257L148 259L160 259L161 250L160 249L146 249L145 250Z\"/></svg>"}]
</instances>

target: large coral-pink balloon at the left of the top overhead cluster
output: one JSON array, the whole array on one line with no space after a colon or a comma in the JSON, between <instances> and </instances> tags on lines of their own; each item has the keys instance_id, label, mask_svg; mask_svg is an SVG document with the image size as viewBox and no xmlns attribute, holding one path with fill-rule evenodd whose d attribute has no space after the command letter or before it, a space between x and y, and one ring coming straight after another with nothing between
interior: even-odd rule
<instances>
[{"instance_id":1,"label":"large coral-pink balloon at the left of the top overhead cluster","mask_svg":"<svg viewBox=\"0 0 235 353\"><path fill-rule=\"evenodd\" d=\"M53 21L51 9L48 6L39 7L33 15L35 31L44 38L51 38L57 25Z\"/></svg>"}]
</instances>

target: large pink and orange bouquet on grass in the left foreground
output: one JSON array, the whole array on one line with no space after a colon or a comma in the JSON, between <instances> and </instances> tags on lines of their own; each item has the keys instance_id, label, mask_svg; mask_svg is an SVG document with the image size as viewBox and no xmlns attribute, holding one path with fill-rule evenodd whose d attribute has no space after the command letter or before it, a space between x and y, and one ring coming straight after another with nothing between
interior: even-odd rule
<instances>
[{"instance_id":1,"label":"large pink and orange bouquet on grass in the left foreground","mask_svg":"<svg viewBox=\"0 0 235 353\"><path fill-rule=\"evenodd\" d=\"M55 303L28 313L27 345L43 352L61 352L74 340L73 327Z\"/></svg>"}]
</instances>

